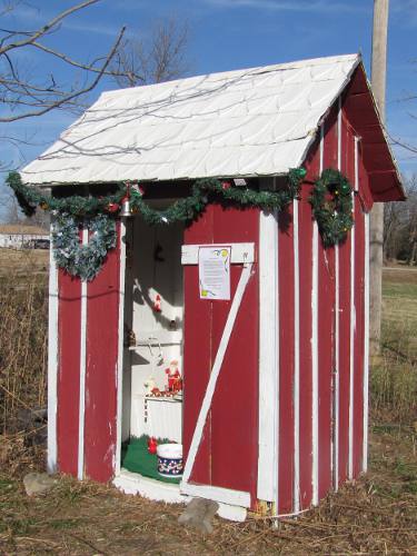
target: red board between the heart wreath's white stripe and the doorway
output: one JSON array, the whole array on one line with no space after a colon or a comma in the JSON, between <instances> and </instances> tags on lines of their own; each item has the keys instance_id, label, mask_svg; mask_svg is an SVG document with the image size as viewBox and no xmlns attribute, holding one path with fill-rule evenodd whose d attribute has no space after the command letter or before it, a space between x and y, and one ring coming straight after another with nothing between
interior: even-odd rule
<instances>
[{"instance_id":1,"label":"red board between the heart wreath's white stripe and the doorway","mask_svg":"<svg viewBox=\"0 0 417 556\"><path fill-rule=\"evenodd\" d=\"M115 474L119 260L118 247L87 286L85 474L101 483Z\"/></svg>"}]
</instances>

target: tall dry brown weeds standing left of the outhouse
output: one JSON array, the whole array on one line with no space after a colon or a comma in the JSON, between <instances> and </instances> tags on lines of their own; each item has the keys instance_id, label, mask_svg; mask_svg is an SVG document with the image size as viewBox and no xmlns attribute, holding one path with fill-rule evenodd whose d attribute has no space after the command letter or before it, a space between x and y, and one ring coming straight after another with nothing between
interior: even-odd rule
<instances>
[{"instance_id":1,"label":"tall dry brown weeds standing left of the outhouse","mask_svg":"<svg viewBox=\"0 0 417 556\"><path fill-rule=\"evenodd\" d=\"M4 252L7 251L7 252ZM0 426L14 426L19 409L46 401L48 251L0 249ZM6 262L6 265L4 265ZM8 264L10 266L8 266ZM6 269L6 270L4 270Z\"/></svg>"}]
</instances>

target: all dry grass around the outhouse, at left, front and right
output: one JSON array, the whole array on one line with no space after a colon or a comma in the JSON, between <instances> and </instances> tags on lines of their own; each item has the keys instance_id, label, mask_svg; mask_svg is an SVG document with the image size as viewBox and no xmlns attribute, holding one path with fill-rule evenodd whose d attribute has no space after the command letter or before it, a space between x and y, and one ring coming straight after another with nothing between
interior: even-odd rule
<instances>
[{"instance_id":1,"label":"all dry grass around the outhouse, at left, front and right","mask_svg":"<svg viewBox=\"0 0 417 556\"><path fill-rule=\"evenodd\" d=\"M0 281L0 385L10 391L0 394L3 427L19 407L44 400L46 280L30 268ZM106 485L60 477L48 496L28 498L21 478L43 470L44 453L24 434L8 434L0 437L0 554L417 554L417 272L385 278L384 364L371 375L370 470L360 480L277 528L255 515L245 524L216 518L205 537L178 526L182 507Z\"/></svg>"}]
</instances>

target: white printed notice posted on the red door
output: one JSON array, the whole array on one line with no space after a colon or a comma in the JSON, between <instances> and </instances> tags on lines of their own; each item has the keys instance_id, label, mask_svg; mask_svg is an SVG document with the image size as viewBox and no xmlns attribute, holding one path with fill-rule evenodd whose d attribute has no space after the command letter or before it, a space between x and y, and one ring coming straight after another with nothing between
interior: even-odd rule
<instances>
[{"instance_id":1,"label":"white printed notice posted on the red door","mask_svg":"<svg viewBox=\"0 0 417 556\"><path fill-rule=\"evenodd\" d=\"M200 247L200 299L230 299L230 247Z\"/></svg>"}]
</instances>

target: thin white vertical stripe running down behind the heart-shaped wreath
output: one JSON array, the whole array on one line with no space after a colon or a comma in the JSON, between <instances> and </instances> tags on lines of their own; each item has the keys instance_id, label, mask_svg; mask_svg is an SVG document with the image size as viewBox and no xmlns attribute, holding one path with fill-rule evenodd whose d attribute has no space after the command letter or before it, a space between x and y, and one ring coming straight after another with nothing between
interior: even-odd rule
<instances>
[{"instance_id":1,"label":"thin white vertical stripe running down behind the heart-shaped wreath","mask_svg":"<svg viewBox=\"0 0 417 556\"><path fill-rule=\"evenodd\" d=\"M82 245L88 244L88 228L82 230ZM80 398L78 415L78 473L81 480L85 467L85 417L86 417L86 364L87 364L87 281L81 281L81 341L80 341Z\"/></svg>"}]
</instances>

